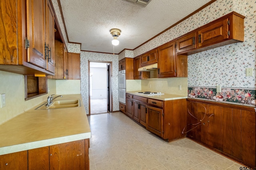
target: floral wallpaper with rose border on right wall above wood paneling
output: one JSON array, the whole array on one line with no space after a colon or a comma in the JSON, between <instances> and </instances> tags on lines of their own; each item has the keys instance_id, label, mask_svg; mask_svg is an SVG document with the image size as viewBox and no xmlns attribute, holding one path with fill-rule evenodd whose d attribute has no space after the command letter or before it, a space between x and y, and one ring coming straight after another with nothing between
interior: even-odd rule
<instances>
[{"instance_id":1,"label":"floral wallpaper with rose border on right wall above wood paneling","mask_svg":"<svg viewBox=\"0 0 256 170\"><path fill-rule=\"evenodd\" d=\"M241 3L244 3L246 16L244 42L188 56L188 86L192 88L188 88L188 97L256 106L256 1L247 0ZM240 5L237 2L236 7L241 9ZM254 68L253 76L246 76L246 68ZM206 97L204 92L200 92L200 95L195 92L202 91L200 86L208 87L209 90L216 85L224 87L220 94L212 93L208 96L206 92Z\"/></svg>"}]
</instances>

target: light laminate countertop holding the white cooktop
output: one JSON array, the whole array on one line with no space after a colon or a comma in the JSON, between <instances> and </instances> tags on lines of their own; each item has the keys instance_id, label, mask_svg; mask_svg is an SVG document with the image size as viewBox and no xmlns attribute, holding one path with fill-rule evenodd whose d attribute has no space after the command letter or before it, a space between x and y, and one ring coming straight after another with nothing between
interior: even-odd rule
<instances>
[{"instance_id":1,"label":"light laminate countertop holding the white cooktop","mask_svg":"<svg viewBox=\"0 0 256 170\"><path fill-rule=\"evenodd\" d=\"M156 99L156 100L162 100L162 101L167 101L167 100L178 100L178 99L186 99L188 96L182 96L182 95L176 95L176 94L160 94L160 95L152 95L148 96L145 94L139 94L138 92L142 91L132 91L132 92L126 92L127 94L132 94L136 96L142 96L145 98L151 98L151 99Z\"/></svg>"}]
</instances>

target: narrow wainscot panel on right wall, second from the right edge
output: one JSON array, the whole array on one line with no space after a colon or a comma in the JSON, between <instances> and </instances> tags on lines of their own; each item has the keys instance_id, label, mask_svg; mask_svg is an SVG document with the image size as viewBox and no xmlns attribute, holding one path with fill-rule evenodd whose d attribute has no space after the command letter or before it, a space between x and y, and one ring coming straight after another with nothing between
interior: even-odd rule
<instances>
[{"instance_id":1,"label":"narrow wainscot panel on right wall, second from the right edge","mask_svg":"<svg viewBox=\"0 0 256 170\"><path fill-rule=\"evenodd\" d=\"M232 156L241 159L241 109L232 109Z\"/></svg>"}]
</instances>

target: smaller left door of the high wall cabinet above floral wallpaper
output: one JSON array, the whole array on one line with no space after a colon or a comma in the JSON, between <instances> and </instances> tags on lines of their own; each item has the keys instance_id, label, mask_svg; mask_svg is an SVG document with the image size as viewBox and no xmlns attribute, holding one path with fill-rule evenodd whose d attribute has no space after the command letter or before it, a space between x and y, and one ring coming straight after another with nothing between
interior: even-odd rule
<instances>
[{"instance_id":1,"label":"smaller left door of the high wall cabinet above floral wallpaper","mask_svg":"<svg viewBox=\"0 0 256 170\"><path fill-rule=\"evenodd\" d=\"M196 48L196 32L186 34L177 39L177 54Z\"/></svg>"}]
</instances>

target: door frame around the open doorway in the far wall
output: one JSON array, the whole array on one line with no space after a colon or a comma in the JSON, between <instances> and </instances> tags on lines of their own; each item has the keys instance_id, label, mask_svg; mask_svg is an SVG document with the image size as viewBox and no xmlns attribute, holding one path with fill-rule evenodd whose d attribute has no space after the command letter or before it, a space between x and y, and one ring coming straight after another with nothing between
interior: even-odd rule
<instances>
[{"instance_id":1,"label":"door frame around the open doorway in the far wall","mask_svg":"<svg viewBox=\"0 0 256 170\"><path fill-rule=\"evenodd\" d=\"M109 94L110 94L110 101L107 103L110 104L110 112L113 112L113 90L112 90L112 80L113 80L113 74L112 74L112 61L95 61L95 60L88 60L88 99L89 99L89 114L91 115L91 97L90 97L90 62L94 63L109 63L110 64L110 76L109 76ZM108 72L108 71L107 71ZM106 75L107 76L107 75ZM108 87L107 87L108 88ZM107 89L108 90L108 89Z\"/></svg>"}]
</instances>

